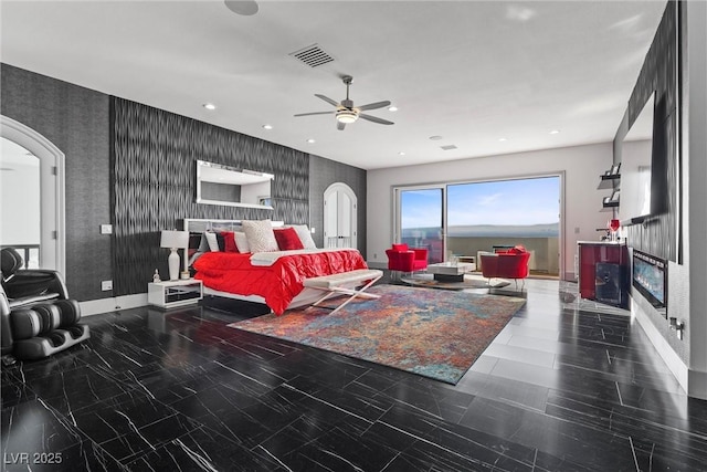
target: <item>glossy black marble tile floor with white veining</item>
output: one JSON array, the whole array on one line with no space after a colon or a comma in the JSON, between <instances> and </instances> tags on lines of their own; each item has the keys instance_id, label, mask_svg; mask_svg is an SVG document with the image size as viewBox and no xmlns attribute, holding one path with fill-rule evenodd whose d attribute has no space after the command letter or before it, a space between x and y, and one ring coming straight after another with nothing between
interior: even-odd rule
<instances>
[{"instance_id":1,"label":"glossy black marble tile floor with white veining","mask_svg":"<svg viewBox=\"0 0 707 472\"><path fill-rule=\"evenodd\" d=\"M2 470L707 470L707 402L626 312L525 296L456 386L226 327L252 305L86 317L83 346L2 369Z\"/></svg>"}]
</instances>

